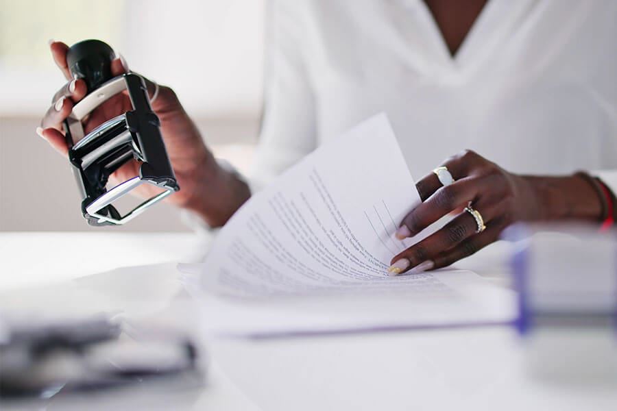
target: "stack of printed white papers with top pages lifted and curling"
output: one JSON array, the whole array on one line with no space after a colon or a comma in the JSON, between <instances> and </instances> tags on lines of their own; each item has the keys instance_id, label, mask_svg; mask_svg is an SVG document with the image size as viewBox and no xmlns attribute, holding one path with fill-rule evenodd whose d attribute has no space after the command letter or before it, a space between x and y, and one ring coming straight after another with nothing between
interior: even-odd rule
<instances>
[{"instance_id":1,"label":"stack of printed white papers with top pages lifted and curling","mask_svg":"<svg viewBox=\"0 0 617 411\"><path fill-rule=\"evenodd\" d=\"M503 312L495 316L463 297L463 288L485 286L474 273L388 276L391 258L422 237L394 237L402 217L419 202L387 117L380 114L254 195L221 229L204 263L181 270L193 273L186 280L192 292L235 300L200 297L214 304L210 311L224 311L210 325L226 318L220 325L238 324L237 332L248 323L254 332L310 332L504 321ZM336 308L317 309L332 301ZM422 318L410 316L410 309L420 310ZM362 319L359 312L365 313ZM245 321L247 314L252 320Z\"/></svg>"}]
</instances>

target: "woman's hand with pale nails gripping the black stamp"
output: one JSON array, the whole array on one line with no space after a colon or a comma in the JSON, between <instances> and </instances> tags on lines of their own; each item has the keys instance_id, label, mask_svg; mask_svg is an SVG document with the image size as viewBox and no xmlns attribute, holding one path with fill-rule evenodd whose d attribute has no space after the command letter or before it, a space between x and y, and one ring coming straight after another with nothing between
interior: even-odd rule
<instances>
[{"instance_id":1,"label":"woman's hand with pale nails gripping the black stamp","mask_svg":"<svg viewBox=\"0 0 617 411\"><path fill-rule=\"evenodd\" d=\"M68 147L62 122L71 113L73 105L85 97L86 83L82 79L71 79L66 63L66 52L69 49L67 45L63 42L51 42L49 47L53 60L69 82L54 95L51 107L36 132L54 149L66 155ZM123 58L113 60L111 69L114 76L128 72ZM147 79L145 82L152 97L155 86ZM234 182L233 180L237 179L218 166L212 153L204 145L197 127L171 88L160 86L158 97L152 102L152 109L160 119L165 148L180 185L180 191L167 197L166 201L201 214L210 225L224 224L250 194L247 187L243 183ZM126 92L120 93L99 105L88 116L84 123L84 132L88 133L104 121L129 110L132 110L132 105L128 95ZM138 175L139 166L136 160L127 162L110 176L110 182L118 184ZM158 190L154 186L143 184L135 193L141 197L152 197Z\"/></svg>"}]
</instances>

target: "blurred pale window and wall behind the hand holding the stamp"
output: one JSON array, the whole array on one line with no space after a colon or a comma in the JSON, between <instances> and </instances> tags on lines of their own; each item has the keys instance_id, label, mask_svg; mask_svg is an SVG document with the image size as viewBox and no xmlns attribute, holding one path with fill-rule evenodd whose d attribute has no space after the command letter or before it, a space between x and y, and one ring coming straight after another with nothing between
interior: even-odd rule
<instances>
[{"instance_id":1,"label":"blurred pale window and wall behind the hand holding the stamp","mask_svg":"<svg viewBox=\"0 0 617 411\"><path fill-rule=\"evenodd\" d=\"M111 45L130 69L171 86L209 147L250 165L263 84L263 0L0 0L0 231L187 231L158 204L125 227L93 228L66 158L36 135L66 82L47 42Z\"/></svg>"}]
</instances>

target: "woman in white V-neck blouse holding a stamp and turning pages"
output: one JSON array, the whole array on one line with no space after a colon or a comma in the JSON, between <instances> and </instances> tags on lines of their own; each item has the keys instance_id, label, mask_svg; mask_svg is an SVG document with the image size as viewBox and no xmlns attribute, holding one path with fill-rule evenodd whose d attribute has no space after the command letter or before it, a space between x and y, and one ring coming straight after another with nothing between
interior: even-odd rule
<instances>
[{"instance_id":1,"label":"woman in white V-neck blouse holding a stamp and turning pages","mask_svg":"<svg viewBox=\"0 0 617 411\"><path fill-rule=\"evenodd\" d=\"M424 175L417 184L423 203L397 235L413 236L460 210L394 256L392 272L452 264L514 221L612 222L616 2L272 1L268 16L265 114L252 184L267 183L317 145L385 111L412 175ZM70 79L66 49L51 43ZM123 60L112 67L116 75L128 71ZM169 201L211 227L223 225L251 189L217 164L173 90L147 85L182 186ZM63 153L62 120L85 90L81 80L66 84L37 129ZM124 96L108 101L86 129L129 107ZM124 166L118 179L135 175L135 167ZM576 173L602 169L596 177Z\"/></svg>"}]
</instances>

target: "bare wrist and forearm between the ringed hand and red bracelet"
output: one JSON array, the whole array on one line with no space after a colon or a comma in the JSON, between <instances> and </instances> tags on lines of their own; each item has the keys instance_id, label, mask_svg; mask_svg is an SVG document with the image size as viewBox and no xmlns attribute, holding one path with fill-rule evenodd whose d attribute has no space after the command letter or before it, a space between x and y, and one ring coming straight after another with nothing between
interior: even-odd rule
<instances>
[{"instance_id":1,"label":"bare wrist and forearm between the ringed hand and red bracelet","mask_svg":"<svg viewBox=\"0 0 617 411\"><path fill-rule=\"evenodd\" d=\"M527 221L600 221L603 203L598 190L579 175L564 177L521 176L528 182L536 203L529 208Z\"/></svg>"}]
</instances>

